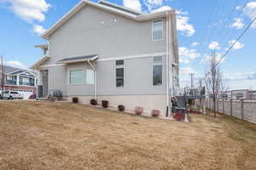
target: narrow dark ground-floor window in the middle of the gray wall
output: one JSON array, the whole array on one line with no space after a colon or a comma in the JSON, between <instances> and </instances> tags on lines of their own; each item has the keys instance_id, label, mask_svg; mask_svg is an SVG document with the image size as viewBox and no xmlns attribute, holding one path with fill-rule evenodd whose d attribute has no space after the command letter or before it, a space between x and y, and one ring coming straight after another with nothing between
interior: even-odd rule
<instances>
[{"instance_id":1,"label":"narrow dark ground-floor window in the middle of the gray wall","mask_svg":"<svg viewBox=\"0 0 256 170\"><path fill-rule=\"evenodd\" d=\"M115 86L124 87L124 60L115 61Z\"/></svg>"}]
</instances>

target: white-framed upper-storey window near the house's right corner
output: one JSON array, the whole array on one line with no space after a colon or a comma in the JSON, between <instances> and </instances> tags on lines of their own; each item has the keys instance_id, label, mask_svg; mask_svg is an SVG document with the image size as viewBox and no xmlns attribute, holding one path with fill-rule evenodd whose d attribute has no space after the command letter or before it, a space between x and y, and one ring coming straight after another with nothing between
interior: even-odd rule
<instances>
[{"instance_id":1,"label":"white-framed upper-storey window near the house's right corner","mask_svg":"<svg viewBox=\"0 0 256 170\"><path fill-rule=\"evenodd\" d=\"M163 39L163 20L154 20L152 22L152 39L153 41Z\"/></svg>"}]
</instances>

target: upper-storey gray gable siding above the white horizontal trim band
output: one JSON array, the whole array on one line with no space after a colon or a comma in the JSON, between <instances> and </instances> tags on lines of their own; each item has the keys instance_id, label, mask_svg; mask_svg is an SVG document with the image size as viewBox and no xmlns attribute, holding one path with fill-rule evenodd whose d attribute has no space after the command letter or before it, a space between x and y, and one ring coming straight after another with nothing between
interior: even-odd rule
<instances>
[{"instance_id":1,"label":"upper-storey gray gable siding above the white horizontal trim band","mask_svg":"<svg viewBox=\"0 0 256 170\"><path fill-rule=\"evenodd\" d=\"M85 6L49 37L50 59L45 64L84 54L111 58L165 52L165 20L163 24L164 40L152 41L151 20L138 22Z\"/></svg>"}]
</instances>

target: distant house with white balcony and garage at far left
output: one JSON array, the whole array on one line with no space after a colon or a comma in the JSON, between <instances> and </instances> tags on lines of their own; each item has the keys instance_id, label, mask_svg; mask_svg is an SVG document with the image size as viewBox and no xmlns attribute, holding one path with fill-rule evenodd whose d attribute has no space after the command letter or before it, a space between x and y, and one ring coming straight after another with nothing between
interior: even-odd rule
<instances>
[{"instance_id":1,"label":"distant house with white balcony and garage at far left","mask_svg":"<svg viewBox=\"0 0 256 170\"><path fill-rule=\"evenodd\" d=\"M28 99L32 94L37 94L37 76L34 71L4 65L3 73L4 76L2 77L2 74L0 76L0 92L2 90L16 91L24 99Z\"/></svg>"}]
</instances>

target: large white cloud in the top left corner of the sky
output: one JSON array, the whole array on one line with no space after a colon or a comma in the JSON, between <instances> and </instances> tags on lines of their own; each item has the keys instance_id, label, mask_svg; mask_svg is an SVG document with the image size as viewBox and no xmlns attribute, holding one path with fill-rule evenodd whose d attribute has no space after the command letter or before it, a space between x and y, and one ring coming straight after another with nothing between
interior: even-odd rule
<instances>
[{"instance_id":1,"label":"large white cloud in the top left corner of the sky","mask_svg":"<svg viewBox=\"0 0 256 170\"><path fill-rule=\"evenodd\" d=\"M12 10L20 19L28 22L44 21L45 15L50 4L45 0L0 0L0 3L7 3L10 10Z\"/></svg>"}]
</instances>

